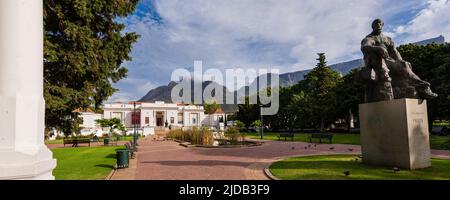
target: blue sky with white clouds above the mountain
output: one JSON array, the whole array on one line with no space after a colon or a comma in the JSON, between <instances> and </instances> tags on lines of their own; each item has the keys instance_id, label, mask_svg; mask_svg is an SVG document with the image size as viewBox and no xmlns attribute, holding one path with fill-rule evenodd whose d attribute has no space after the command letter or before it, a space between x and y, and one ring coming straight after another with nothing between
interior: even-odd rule
<instances>
[{"instance_id":1,"label":"blue sky with white clouds above the mountain","mask_svg":"<svg viewBox=\"0 0 450 200\"><path fill-rule=\"evenodd\" d=\"M110 101L137 100L167 85L173 70L310 69L316 53L329 64L360 58L361 39L375 18L397 44L450 37L449 0L141 0L120 19L141 38L128 77Z\"/></svg>"}]
</instances>

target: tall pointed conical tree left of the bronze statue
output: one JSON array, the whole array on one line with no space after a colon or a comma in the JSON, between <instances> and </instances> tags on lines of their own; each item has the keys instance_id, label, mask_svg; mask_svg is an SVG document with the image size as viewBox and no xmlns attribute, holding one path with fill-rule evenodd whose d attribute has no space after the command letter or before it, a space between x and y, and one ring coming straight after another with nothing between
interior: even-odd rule
<instances>
[{"instance_id":1,"label":"tall pointed conical tree left of the bronze statue","mask_svg":"<svg viewBox=\"0 0 450 200\"><path fill-rule=\"evenodd\" d=\"M324 53L319 53L319 62L316 68L305 75L306 98L310 103L310 108L320 122L320 131L324 131L325 123L334 119L335 107L335 88L341 81L341 75L331 69L326 64Z\"/></svg>"}]
</instances>

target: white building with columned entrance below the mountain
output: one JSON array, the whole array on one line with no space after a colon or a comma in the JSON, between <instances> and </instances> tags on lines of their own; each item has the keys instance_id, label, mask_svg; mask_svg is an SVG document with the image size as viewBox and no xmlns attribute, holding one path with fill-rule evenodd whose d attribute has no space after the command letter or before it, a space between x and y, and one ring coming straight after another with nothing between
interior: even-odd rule
<instances>
[{"instance_id":1,"label":"white building with columned entrance below the mountain","mask_svg":"<svg viewBox=\"0 0 450 200\"><path fill-rule=\"evenodd\" d=\"M109 133L108 128L100 127L96 120L118 118L127 129L127 134L133 134L134 124L137 124L138 132L144 135L152 135L155 128L168 127L194 127L209 125L203 106L188 104L173 104L157 101L155 103L108 103L103 107L103 114L95 113L91 109L77 109L83 119L80 125L81 135L95 134L101 137L103 133ZM135 114L133 114L135 113ZM60 133L63 136L62 133Z\"/></svg>"}]
</instances>

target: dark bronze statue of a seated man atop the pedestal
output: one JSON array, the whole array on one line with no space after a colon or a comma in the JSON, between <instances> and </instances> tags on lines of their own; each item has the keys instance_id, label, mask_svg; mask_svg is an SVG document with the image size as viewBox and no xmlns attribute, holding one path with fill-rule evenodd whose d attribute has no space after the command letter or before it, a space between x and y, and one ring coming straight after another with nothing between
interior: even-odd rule
<instances>
[{"instance_id":1,"label":"dark bronze statue of a seated man atop the pedestal","mask_svg":"<svg viewBox=\"0 0 450 200\"><path fill-rule=\"evenodd\" d=\"M383 26L384 22L376 19L372 23L372 33L361 42L365 62L362 78L367 81L366 102L436 98L430 83L414 74L411 64L403 60L393 40L383 35Z\"/></svg>"}]
</instances>

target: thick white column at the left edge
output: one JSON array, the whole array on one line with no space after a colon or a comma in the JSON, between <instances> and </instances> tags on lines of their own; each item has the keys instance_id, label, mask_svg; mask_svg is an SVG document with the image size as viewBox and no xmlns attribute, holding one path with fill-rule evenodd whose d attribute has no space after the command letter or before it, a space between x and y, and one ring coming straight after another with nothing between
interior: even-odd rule
<instances>
[{"instance_id":1,"label":"thick white column at the left edge","mask_svg":"<svg viewBox=\"0 0 450 200\"><path fill-rule=\"evenodd\" d=\"M0 179L54 179L44 144L42 0L0 1Z\"/></svg>"}]
</instances>

